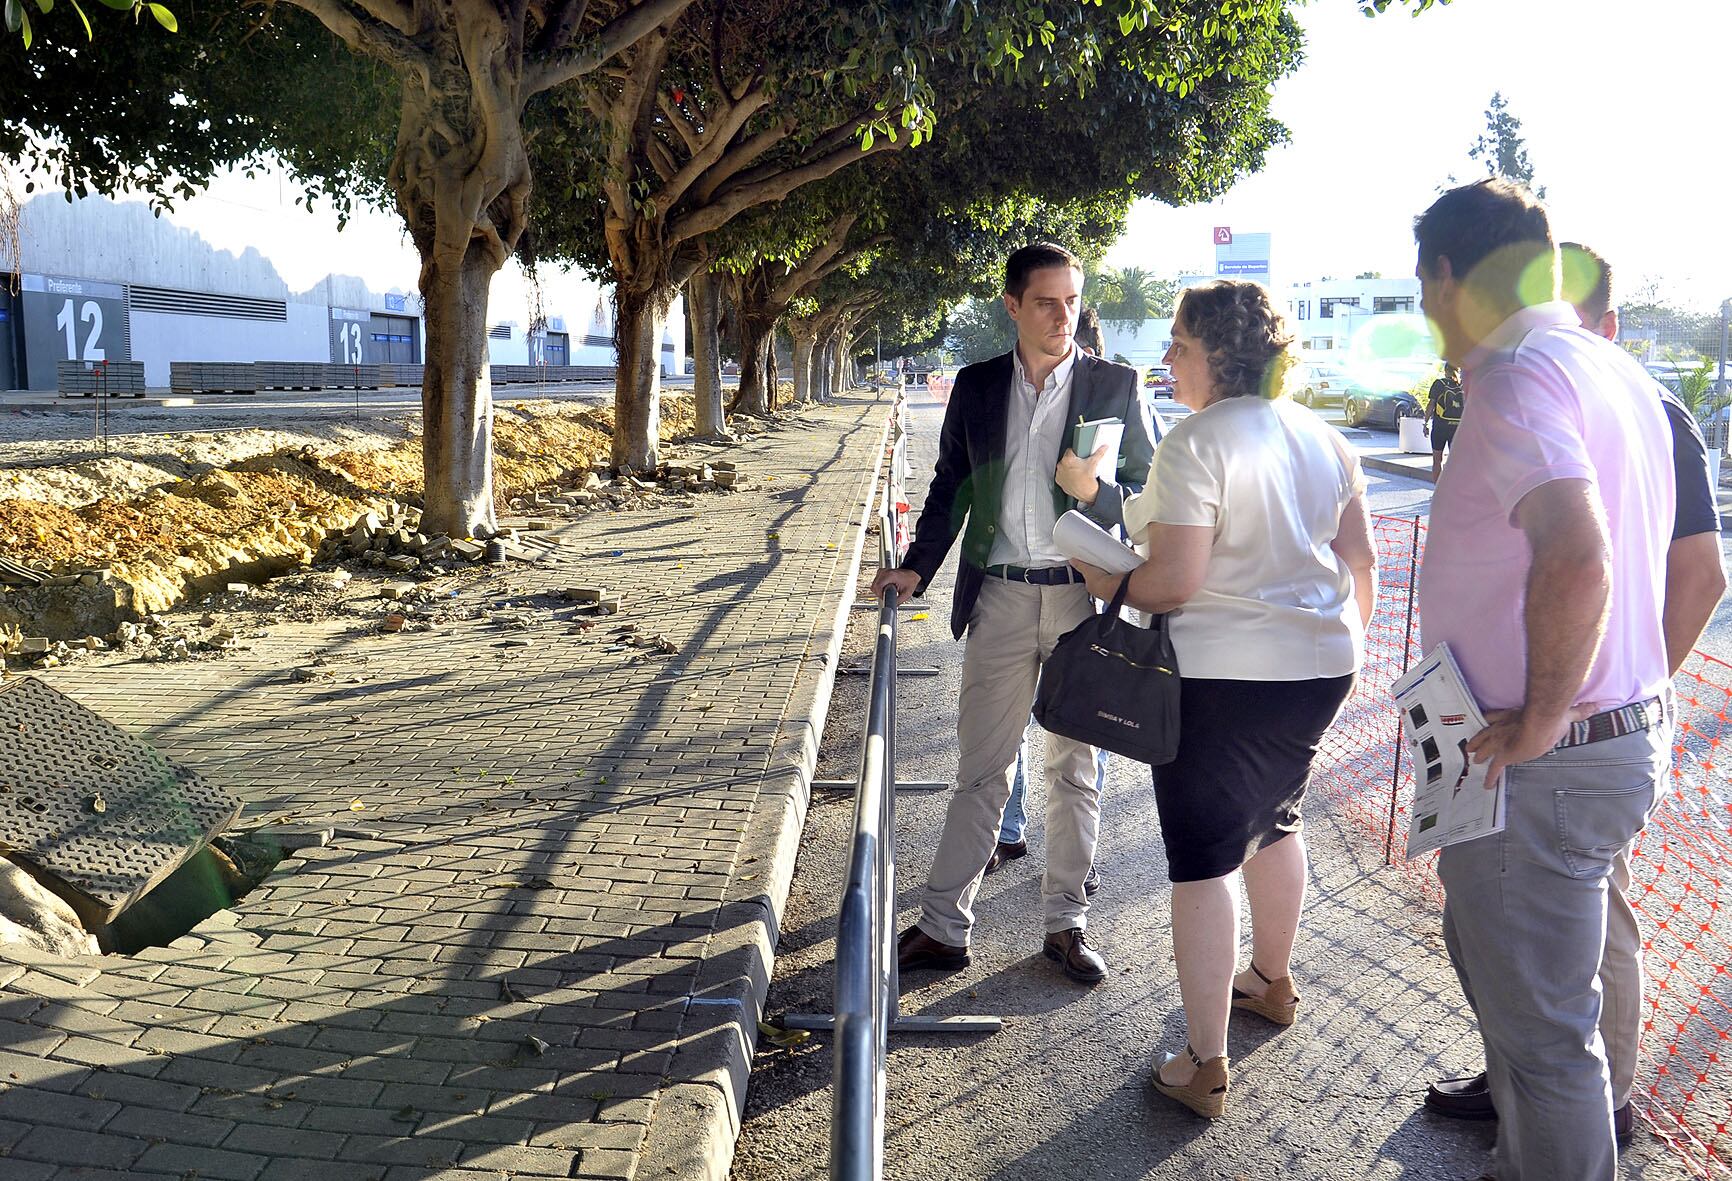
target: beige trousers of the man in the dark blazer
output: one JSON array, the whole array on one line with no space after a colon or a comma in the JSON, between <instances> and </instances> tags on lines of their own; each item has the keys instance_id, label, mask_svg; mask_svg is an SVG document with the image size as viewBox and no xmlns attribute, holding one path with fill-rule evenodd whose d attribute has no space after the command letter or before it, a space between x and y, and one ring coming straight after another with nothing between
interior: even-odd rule
<instances>
[{"instance_id":1,"label":"beige trousers of the man in the dark blazer","mask_svg":"<svg viewBox=\"0 0 1732 1181\"><path fill-rule=\"evenodd\" d=\"M973 900L998 843L1017 746L1029 724L1041 663L1058 637L1093 615L1081 584L1031 587L987 578L968 623L956 712L956 791L920 899L920 930L958 947L973 930ZM1046 932L1088 925L1082 878L1095 862L1100 791L1095 748L1046 736Z\"/></svg>"}]
</instances>

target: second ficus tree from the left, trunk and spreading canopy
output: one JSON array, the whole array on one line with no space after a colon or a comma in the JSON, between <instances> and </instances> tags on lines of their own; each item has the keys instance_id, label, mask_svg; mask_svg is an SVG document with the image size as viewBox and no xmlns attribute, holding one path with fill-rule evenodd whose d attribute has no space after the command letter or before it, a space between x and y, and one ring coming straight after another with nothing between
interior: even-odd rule
<instances>
[{"instance_id":1,"label":"second ficus tree from the left, trunk and spreading canopy","mask_svg":"<svg viewBox=\"0 0 1732 1181\"><path fill-rule=\"evenodd\" d=\"M700 0L533 113L537 251L585 260L613 282L615 462L656 462L662 322L736 218L878 154L918 154L944 119L982 102L1081 94L1112 71L1138 74L1150 106L1216 80L1266 85L1294 43L1283 0ZM1266 107L1266 92L1238 90L1167 128L1178 144L1167 166L1181 170L1174 158L1195 151L1216 114ZM992 137L977 147L1027 151ZM1183 171L1233 177L1242 161Z\"/></svg>"}]
</instances>

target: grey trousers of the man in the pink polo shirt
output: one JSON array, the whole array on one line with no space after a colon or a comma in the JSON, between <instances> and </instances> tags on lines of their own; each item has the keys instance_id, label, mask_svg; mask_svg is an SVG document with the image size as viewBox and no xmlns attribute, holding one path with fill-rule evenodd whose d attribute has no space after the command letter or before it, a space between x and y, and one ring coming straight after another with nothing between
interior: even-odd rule
<instances>
[{"instance_id":1,"label":"grey trousers of the man in the pink polo shirt","mask_svg":"<svg viewBox=\"0 0 1732 1181\"><path fill-rule=\"evenodd\" d=\"M1438 859L1443 935L1479 1018L1500 1181L1612 1181L1600 961L1612 862L1658 800L1670 726L1505 771L1505 829Z\"/></svg>"}]
</instances>

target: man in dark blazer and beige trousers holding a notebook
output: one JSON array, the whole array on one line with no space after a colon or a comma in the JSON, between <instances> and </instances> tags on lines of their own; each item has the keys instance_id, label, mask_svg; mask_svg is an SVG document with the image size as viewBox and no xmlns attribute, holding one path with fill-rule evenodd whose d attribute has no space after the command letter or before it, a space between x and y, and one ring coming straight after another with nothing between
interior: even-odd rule
<instances>
[{"instance_id":1,"label":"man in dark blazer and beige trousers holding a notebook","mask_svg":"<svg viewBox=\"0 0 1732 1181\"><path fill-rule=\"evenodd\" d=\"M1124 495L1148 478L1155 426L1136 371L1076 348L1082 268L1041 242L1005 265L1005 308L1017 348L956 374L939 459L914 542L873 592L923 594L961 535L951 632L966 632L958 703L956 791L921 895L920 923L899 940L902 970L968 965L973 899L1010 798L1011 765L1034 705L1041 663L1058 637L1093 613L1081 577L1053 545L1053 525L1081 509L1102 526L1124 521ZM1076 455L1079 423L1117 421L1124 438ZM1096 469L1114 464L1114 480ZM1046 736L1044 954L1065 975L1096 982L1107 966L1088 945L1082 880L1095 861L1100 793L1095 748Z\"/></svg>"}]
</instances>

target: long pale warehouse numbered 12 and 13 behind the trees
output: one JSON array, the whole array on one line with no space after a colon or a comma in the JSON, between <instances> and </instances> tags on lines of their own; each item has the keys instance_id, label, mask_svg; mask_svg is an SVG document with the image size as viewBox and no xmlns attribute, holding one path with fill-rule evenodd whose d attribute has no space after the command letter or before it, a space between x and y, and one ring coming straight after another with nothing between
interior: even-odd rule
<instances>
[{"instance_id":1,"label":"long pale warehouse numbered 12 and 13 behind the trees","mask_svg":"<svg viewBox=\"0 0 1732 1181\"><path fill-rule=\"evenodd\" d=\"M45 192L26 203L17 272L0 274L0 390L54 390L61 360L144 362L145 384L163 388L177 360L417 364L426 355L412 251L398 251L386 274L326 274L293 291L282 275L308 274L307 248L274 218L253 222L241 253L191 225L196 211L156 216L142 201ZM352 223L315 265L393 258L371 249L376 225ZM546 329L532 334L537 310ZM613 367L610 291L549 267L532 284L513 261L494 279L487 338L495 365ZM684 372L684 341L675 301L663 374Z\"/></svg>"}]
</instances>

